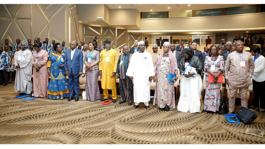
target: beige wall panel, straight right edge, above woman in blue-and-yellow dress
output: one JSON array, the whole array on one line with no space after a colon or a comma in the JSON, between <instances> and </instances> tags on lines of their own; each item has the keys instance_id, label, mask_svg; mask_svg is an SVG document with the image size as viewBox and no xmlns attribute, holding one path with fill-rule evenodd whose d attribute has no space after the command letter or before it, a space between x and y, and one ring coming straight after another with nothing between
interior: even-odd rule
<instances>
[{"instance_id":1,"label":"beige wall panel, straight right edge, above woman in blue-and-yellow dress","mask_svg":"<svg viewBox=\"0 0 265 149\"><path fill-rule=\"evenodd\" d=\"M67 29L65 27L65 8L64 8L50 21L50 34L64 41L66 40L65 37L66 30Z\"/></svg>"}]
</instances>

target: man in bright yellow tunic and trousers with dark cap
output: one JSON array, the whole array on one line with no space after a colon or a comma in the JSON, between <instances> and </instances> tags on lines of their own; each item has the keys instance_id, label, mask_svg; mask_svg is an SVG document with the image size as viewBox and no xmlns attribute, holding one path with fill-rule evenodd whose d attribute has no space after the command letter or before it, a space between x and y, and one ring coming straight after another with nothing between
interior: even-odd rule
<instances>
[{"instance_id":1,"label":"man in bright yellow tunic and trousers with dark cap","mask_svg":"<svg viewBox=\"0 0 265 149\"><path fill-rule=\"evenodd\" d=\"M109 92L112 91L112 102L116 102L116 68L118 63L117 52L110 48L110 41L106 41L105 49L100 52L99 75L104 98L100 101L108 100Z\"/></svg>"}]
</instances>

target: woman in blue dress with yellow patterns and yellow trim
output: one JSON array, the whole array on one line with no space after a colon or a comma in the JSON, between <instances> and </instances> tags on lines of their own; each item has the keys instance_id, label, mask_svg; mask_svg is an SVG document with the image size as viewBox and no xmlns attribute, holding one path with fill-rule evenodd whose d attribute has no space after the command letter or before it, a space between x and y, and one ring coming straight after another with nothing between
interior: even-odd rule
<instances>
[{"instance_id":1,"label":"woman in blue dress with yellow patterns and yellow trim","mask_svg":"<svg viewBox=\"0 0 265 149\"><path fill-rule=\"evenodd\" d=\"M69 82L66 79L63 64L64 53L62 53L60 43L54 44L53 48L55 52L49 55L49 61L47 63L48 74L51 78L47 87L47 98L62 100L64 97L69 97Z\"/></svg>"}]
</instances>

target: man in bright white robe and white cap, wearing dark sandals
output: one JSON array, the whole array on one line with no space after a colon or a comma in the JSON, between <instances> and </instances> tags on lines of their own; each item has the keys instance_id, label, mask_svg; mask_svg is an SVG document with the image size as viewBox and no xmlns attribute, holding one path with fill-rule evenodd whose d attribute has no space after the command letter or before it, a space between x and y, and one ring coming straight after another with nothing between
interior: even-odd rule
<instances>
[{"instance_id":1,"label":"man in bright white robe and white cap, wearing dark sandals","mask_svg":"<svg viewBox=\"0 0 265 149\"><path fill-rule=\"evenodd\" d=\"M138 42L139 51L135 52L130 59L130 64L126 75L133 82L133 98L136 109L140 102L145 104L146 110L150 110L148 102L150 101L150 83L155 75L152 56L145 51L145 42Z\"/></svg>"}]
</instances>

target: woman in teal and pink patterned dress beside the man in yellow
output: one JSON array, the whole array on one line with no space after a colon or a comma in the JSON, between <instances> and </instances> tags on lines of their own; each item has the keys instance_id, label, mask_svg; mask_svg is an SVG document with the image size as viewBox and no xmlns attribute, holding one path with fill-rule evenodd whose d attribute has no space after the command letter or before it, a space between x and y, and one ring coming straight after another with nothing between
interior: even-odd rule
<instances>
[{"instance_id":1,"label":"woman in teal and pink patterned dress beside the man in yellow","mask_svg":"<svg viewBox=\"0 0 265 149\"><path fill-rule=\"evenodd\" d=\"M86 99L90 101L96 101L101 98L98 87L98 63L100 62L100 52L95 50L96 47L94 42L90 42L88 44L89 51L85 54L84 59L87 77Z\"/></svg>"}]
</instances>

